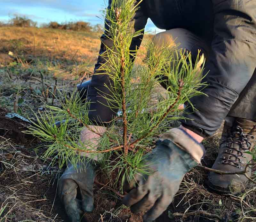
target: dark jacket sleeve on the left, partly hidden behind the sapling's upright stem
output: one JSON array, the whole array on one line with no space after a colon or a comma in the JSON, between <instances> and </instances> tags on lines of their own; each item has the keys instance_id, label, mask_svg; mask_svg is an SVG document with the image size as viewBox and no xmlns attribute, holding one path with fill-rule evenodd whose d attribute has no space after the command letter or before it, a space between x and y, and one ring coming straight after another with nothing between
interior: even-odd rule
<instances>
[{"instance_id":1,"label":"dark jacket sleeve on the left, partly hidden behind the sapling's upright stem","mask_svg":"<svg viewBox=\"0 0 256 222\"><path fill-rule=\"evenodd\" d=\"M139 0L135 0L134 5L138 4ZM108 1L108 8L110 8L112 0ZM131 22L133 25L133 31L139 31L144 29L147 23L148 17L143 12L142 6L135 12ZM110 21L105 19L105 29L108 30ZM108 25L107 25L108 24ZM131 50L135 50L140 47L143 34L137 36L132 39L132 43L130 46ZM92 75L91 85L88 91L87 99L91 101L90 111L89 111L89 119L96 125L108 125L111 122L113 117L116 115L117 109L108 107L108 103L106 99L103 97L109 97L111 92L108 90L108 87L104 86L105 84L109 86L111 84L111 80L109 75L98 74L98 69L102 64L106 62L106 60L101 56L106 51L106 45L108 47L113 46L113 42L107 37L108 32L105 31L101 36L101 45L100 45L100 53L98 57L98 61L94 68L94 74Z\"/></svg>"}]
</instances>

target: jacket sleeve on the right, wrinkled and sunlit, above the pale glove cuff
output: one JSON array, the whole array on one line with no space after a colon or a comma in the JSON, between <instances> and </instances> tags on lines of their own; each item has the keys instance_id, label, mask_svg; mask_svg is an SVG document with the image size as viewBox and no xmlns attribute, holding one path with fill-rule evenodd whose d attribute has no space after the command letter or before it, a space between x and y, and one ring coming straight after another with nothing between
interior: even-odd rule
<instances>
[{"instance_id":1,"label":"jacket sleeve on the right, wrinkled and sunlit, above the pale glove cuff","mask_svg":"<svg viewBox=\"0 0 256 222\"><path fill-rule=\"evenodd\" d=\"M212 0L214 38L204 81L208 95L191 99L182 125L202 136L212 135L251 79L256 67L256 3L248 0ZM256 76L254 76L256 78ZM255 92L256 93L256 92ZM193 113L194 112L194 113Z\"/></svg>"}]
</instances>

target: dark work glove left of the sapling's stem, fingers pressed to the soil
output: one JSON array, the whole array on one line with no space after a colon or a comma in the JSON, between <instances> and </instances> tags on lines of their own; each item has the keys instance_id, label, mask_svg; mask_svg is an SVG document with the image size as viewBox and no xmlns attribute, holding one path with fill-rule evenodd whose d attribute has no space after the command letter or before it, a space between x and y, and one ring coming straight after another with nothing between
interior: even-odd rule
<instances>
[{"instance_id":1,"label":"dark work glove left of the sapling's stem, fingers pressed to the soil","mask_svg":"<svg viewBox=\"0 0 256 222\"><path fill-rule=\"evenodd\" d=\"M80 222L80 214L93 210L93 184L95 170L92 162L81 161L76 169L69 164L59 179L58 194L64 204L71 222ZM76 199L76 188L79 187L82 200Z\"/></svg>"}]
</instances>

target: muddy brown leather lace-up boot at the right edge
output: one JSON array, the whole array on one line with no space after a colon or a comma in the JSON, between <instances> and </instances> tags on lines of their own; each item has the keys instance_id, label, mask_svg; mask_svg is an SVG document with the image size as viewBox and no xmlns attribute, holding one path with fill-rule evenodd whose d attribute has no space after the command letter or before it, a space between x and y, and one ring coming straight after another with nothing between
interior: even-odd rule
<instances>
[{"instance_id":1,"label":"muddy brown leather lace-up boot at the right edge","mask_svg":"<svg viewBox=\"0 0 256 222\"><path fill-rule=\"evenodd\" d=\"M256 122L236 118L230 122L225 120L221 137L220 150L212 169L239 172L243 171L252 155L245 152L252 151L256 142ZM248 167L248 176L252 169ZM218 193L236 193L243 190L248 179L244 175L220 175L210 172L208 186Z\"/></svg>"}]
</instances>

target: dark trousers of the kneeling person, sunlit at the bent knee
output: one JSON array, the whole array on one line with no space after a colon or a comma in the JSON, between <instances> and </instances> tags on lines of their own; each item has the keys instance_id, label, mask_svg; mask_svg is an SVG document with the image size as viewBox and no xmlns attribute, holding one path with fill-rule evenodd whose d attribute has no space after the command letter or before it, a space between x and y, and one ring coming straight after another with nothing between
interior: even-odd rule
<instances>
[{"instance_id":1,"label":"dark trousers of the kneeling person, sunlit at the bent knee","mask_svg":"<svg viewBox=\"0 0 256 222\"><path fill-rule=\"evenodd\" d=\"M155 45L161 44L161 46L162 44L176 44L178 49L191 52L192 61L196 61L198 50L200 50L200 56L204 54L206 66L212 53L209 39L199 37L193 32L183 28L174 28L158 33L154 36L153 42ZM208 70L205 70L205 72L208 72ZM251 80L240 93L235 104L231 107L228 115L256 121L256 69Z\"/></svg>"}]
</instances>

